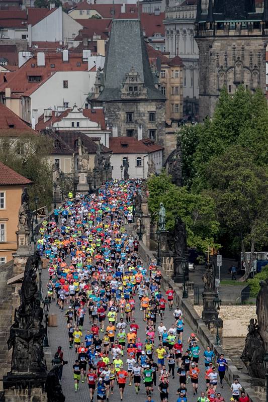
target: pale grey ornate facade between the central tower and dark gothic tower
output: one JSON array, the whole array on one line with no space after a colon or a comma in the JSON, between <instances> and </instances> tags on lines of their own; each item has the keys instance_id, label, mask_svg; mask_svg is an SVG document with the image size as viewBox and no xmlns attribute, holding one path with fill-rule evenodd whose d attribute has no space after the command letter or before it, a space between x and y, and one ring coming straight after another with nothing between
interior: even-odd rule
<instances>
[{"instance_id":1,"label":"pale grey ornate facade between the central tower and dark gothic tower","mask_svg":"<svg viewBox=\"0 0 268 402\"><path fill-rule=\"evenodd\" d=\"M194 38L197 0L184 1L165 10L165 50L180 56L184 64L183 92L185 118L198 119L199 49Z\"/></svg>"}]
</instances>

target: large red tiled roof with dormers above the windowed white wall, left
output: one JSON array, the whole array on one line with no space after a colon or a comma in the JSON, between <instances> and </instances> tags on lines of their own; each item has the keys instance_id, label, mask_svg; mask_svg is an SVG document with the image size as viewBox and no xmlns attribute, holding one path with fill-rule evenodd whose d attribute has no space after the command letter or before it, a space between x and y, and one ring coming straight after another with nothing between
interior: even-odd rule
<instances>
[{"instance_id":1,"label":"large red tiled roof with dormers above the windowed white wall, left","mask_svg":"<svg viewBox=\"0 0 268 402\"><path fill-rule=\"evenodd\" d=\"M80 65L77 66L77 63ZM34 64L34 67L31 65ZM55 67L51 67L51 65ZM13 92L23 93L36 89L42 84L42 81L48 79L51 73L56 71L87 71L87 62L82 62L82 55L69 53L69 61L63 62L61 53L45 53L45 66L37 66L37 55L35 54L26 63L24 63L17 71L12 72L8 82L0 85L0 92L3 92L6 87L11 88ZM41 82L29 82L28 76L41 75Z\"/></svg>"}]
</instances>

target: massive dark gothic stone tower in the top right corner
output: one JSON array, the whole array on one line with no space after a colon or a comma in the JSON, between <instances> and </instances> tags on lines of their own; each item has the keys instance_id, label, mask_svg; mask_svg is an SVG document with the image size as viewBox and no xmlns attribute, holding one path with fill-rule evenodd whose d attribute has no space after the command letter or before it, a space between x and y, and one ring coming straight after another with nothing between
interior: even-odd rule
<instances>
[{"instance_id":1,"label":"massive dark gothic stone tower in the top right corner","mask_svg":"<svg viewBox=\"0 0 268 402\"><path fill-rule=\"evenodd\" d=\"M256 13L254 0L198 0L195 39L199 47L200 116L212 116L220 90L233 93L239 84L254 91L266 85L268 0Z\"/></svg>"}]
</instances>

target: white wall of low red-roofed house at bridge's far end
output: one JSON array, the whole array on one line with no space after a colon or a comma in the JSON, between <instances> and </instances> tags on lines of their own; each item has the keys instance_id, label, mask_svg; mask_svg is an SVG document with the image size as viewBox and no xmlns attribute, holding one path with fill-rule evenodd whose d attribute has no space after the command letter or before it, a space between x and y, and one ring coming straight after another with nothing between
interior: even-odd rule
<instances>
[{"instance_id":1,"label":"white wall of low red-roofed house at bridge's far end","mask_svg":"<svg viewBox=\"0 0 268 402\"><path fill-rule=\"evenodd\" d=\"M128 157L129 161L129 178L147 178L148 173L148 164L150 158L153 158L156 172L160 173L162 169L162 151L151 152L148 154L112 154L111 155L111 165L113 166L113 178L114 179L121 179L121 169L120 166L122 165L123 158ZM137 166L137 157L141 157L141 166ZM124 175L124 170L123 170Z\"/></svg>"}]
</instances>

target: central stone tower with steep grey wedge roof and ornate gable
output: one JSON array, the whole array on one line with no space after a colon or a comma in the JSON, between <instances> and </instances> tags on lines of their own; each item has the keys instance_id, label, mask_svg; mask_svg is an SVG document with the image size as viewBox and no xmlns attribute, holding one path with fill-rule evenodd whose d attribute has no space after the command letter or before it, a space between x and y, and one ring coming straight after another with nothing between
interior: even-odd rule
<instances>
[{"instance_id":1,"label":"central stone tower with steep grey wedge roof and ornate gable","mask_svg":"<svg viewBox=\"0 0 268 402\"><path fill-rule=\"evenodd\" d=\"M165 96L152 72L139 20L113 20L94 106L103 106L113 137L147 138L164 145Z\"/></svg>"}]
</instances>

